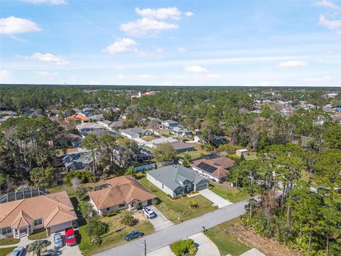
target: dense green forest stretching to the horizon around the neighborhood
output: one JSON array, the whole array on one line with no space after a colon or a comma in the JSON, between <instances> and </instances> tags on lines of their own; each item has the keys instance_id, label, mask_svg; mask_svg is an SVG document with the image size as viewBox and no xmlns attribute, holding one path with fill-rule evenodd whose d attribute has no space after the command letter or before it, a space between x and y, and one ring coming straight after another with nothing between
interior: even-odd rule
<instances>
[{"instance_id":1,"label":"dense green forest stretching to the horizon around the neighborhood","mask_svg":"<svg viewBox=\"0 0 341 256\"><path fill-rule=\"evenodd\" d=\"M136 92L148 90L157 93L131 100ZM325 97L328 91L338 95ZM316 107L298 107L283 116L266 100L290 101L293 107L305 101ZM239 159L229 175L250 196L242 223L305 255L340 255L341 125L323 111L325 105L341 106L340 89L4 85L0 110L20 117L0 126L0 189L63 182L58 179L58 149L51 143L65 130L63 117L74 108L94 107L100 113L118 107L112 119L124 114L124 127L148 127L148 117L174 119L200 132L207 151L229 152L235 146L255 151L255 160ZM37 114L26 116L30 110ZM50 119L53 113L61 118ZM215 144L220 135L228 138L226 144ZM301 143L303 137L308 144ZM113 165L108 159L114 145L124 148L121 159L126 161L136 150L135 144L113 137L87 137L84 143L92 155L99 148L102 156L110 156L102 159L102 166ZM106 175L95 167L94 176Z\"/></svg>"}]
</instances>

